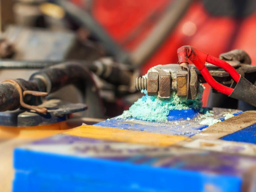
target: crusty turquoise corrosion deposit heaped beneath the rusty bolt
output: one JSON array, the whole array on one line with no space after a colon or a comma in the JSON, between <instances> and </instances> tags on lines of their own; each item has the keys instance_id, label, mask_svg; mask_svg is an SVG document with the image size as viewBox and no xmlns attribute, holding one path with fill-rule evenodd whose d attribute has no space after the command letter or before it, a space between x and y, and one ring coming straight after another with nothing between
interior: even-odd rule
<instances>
[{"instance_id":1,"label":"crusty turquoise corrosion deposit heaped beneath the rusty bolt","mask_svg":"<svg viewBox=\"0 0 256 192\"><path fill-rule=\"evenodd\" d=\"M198 93L195 100L187 100L185 97L178 97L176 91L172 91L170 98L163 99L148 96L146 91L142 98L138 99L127 111L118 116L118 119L133 117L146 121L167 121L167 115L170 110L183 110L190 108L202 108L202 93L204 87L198 87Z\"/></svg>"}]
</instances>

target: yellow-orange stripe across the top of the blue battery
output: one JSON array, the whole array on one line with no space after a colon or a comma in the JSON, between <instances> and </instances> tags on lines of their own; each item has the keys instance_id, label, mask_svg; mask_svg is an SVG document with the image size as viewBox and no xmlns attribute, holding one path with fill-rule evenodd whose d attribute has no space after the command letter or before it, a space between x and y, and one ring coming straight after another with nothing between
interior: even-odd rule
<instances>
[{"instance_id":1,"label":"yellow-orange stripe across the top of the blue battery","mask_svg":"<svg viewBox=\"0 0 256 192\"><path fill-rule=\"evenodd\" d=\"M109 127L98 127L92 125L82 125L80 127L76 127L69 131L66 131L62 134L164 147L176 144L187 138L184 136L130 131L123 129L114 129Z\"/></svg>"}]
</instances>

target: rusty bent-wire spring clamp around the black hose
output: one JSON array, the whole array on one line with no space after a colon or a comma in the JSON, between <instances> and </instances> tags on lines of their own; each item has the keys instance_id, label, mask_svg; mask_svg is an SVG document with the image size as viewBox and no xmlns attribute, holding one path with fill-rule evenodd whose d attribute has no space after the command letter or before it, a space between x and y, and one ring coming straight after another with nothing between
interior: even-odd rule
<instances>
[{"instance_id":1,"label":"rusty bent-wire spring clamp around the black hose","mask_svg":"<svg viewBox=\"0 0 256 192\"><path fill-rule=\"evenodd\" d=\"M39 107L39 106L35 106L35 105L29 105L26 104L23 100L23 98L25 97L25 95L30 94L30 95L34 95L34 96L39 96L39 97L45 97L48 95L48 93L46 92L40 92L40 91L30 91L30 90L25 90L23 91L22 88L20 87L19 83L17 83L15 80L13 79L7 79L7 80L3 80L1 81L1 83L12 83L15 88L18 90L19 92L19 102L20 105L26 109L31 109L34 110L38 113L46 113L47 109L44 107Z\"/></svg>"}]
</instances>

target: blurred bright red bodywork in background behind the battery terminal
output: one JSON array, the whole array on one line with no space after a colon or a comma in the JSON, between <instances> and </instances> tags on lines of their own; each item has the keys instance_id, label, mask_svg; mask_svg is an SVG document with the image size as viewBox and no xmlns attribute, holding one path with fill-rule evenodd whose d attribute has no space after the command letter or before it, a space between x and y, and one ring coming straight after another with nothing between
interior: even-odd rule
<instances>
[{"instance_id":1,"label":"blurred bright red bodywork in background behind the battery terminal","mask_svg":"<svg viewBox=\"0 0 256 192\"><path fill-rule=\"evenodd\" d=\"M87 8L82 0L72 0ZM169 0L95 0L91 7L93 16L125 50L134 50L152 30ZM190 4L175 29L162 45L143 64L142 73L155 65L177 63L176 50L191 45L212 56L232 49L245 50L256 63L256 13L245 18L213 16L201 1ZM210 87L205 84L203 105L206 106Z\"/></svg>"}]
</instances>

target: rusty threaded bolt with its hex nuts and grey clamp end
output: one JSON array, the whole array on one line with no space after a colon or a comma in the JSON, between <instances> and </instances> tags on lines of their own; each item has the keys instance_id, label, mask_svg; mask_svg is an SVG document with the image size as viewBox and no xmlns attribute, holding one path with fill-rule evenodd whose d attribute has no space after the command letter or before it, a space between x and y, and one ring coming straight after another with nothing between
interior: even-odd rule
<instances>
[{"instance_id":1,"label":"rusty threaded bolt with its hex nuts and grey clamp end","mask_svg":"<svg viewBox=\"0 0 256 192\"><path fill-rule=\"evenodd\" d=\"M188 68L189 69L189 68ZM157 66L147 73L147 78L135 79L136 90L147 90L148 96L169 98L171 91L177 91L179 97L194 100L197 95L197 73L188 71L178 64Z\"/></svg>"}]
</instances>

